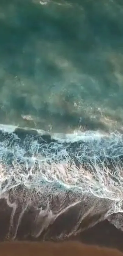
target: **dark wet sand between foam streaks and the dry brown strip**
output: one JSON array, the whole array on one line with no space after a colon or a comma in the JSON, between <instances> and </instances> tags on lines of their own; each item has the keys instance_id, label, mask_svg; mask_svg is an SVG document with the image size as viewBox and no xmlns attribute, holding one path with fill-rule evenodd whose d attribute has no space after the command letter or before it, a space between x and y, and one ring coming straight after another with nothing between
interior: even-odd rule
<instances>
[{"instance_id":1,"label":"dark wet sand between foam streaks and the dry brown strip","mask_svg":"<svg viewBox=\"0 0 123 256\"><path fill-rule=\"evenodd\" d=\"M18 223L18 218L20 216L19 210L16 209L16 214L14 217L13 227L10 230L10 216L12 213L12 208L8 207L5 203L5 199L0 200L0 242L6 240L13 240L13 235L15 234L16 225ZM75 212L74 212L75 213ZM18 230L16 233L15 240L25 241L28 240L31 243L34 241L42 241L44 239L43 233L39 237L31 236L31 230L34 228L34 218L35 211L33 208L30 208L27 212L24 213L24 216L18 226ZM95 218L93 216L92 218ZM82 221L83 225L89 225L90 219L86 219L86 221ZM64 223L63 223L64 222ZM59 229L65 228L66 222L66 231L69 225L72 225L72 218L61 218L59 219L59 223L56 222L57 225L49 226L49 236L47 236L47 240L51 240L52 236L57 238L56 234L59 232ZM9 234L9 236L8 236ZM104 220L94 225L92 228L87 228L83 232L79 233L76 236L71 236L67 240L76 240L84 244L88 245L99 245L103 247L113 247L123 252L123 232L117 229L114 225L110 224L108 220ZM12 242L13 243L13 242ZM2 244L2 243L1 243ZM1 254L0 254L1 255Z\"/></svg>"}]
</instances>

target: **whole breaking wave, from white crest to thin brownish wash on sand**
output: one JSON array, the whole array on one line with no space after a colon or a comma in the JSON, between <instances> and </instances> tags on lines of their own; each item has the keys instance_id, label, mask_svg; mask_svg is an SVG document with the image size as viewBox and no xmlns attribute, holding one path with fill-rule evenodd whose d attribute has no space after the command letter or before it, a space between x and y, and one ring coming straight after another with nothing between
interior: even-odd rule
<instances>
[{"instance_id":1,"label":"whole breaking wave, from white crest to thin brownish wash on sand","mask_svg":"<svg viewBox=\"0 0 123 256\"><path fill-rule=\"evenodd\" d=\"M65 135L1 125L0 197L13 209L8 237L17 237L32 208L34 238L64 239L104 219L122 229L122 170L120 133Z\"/></svg>"}]
</instances>

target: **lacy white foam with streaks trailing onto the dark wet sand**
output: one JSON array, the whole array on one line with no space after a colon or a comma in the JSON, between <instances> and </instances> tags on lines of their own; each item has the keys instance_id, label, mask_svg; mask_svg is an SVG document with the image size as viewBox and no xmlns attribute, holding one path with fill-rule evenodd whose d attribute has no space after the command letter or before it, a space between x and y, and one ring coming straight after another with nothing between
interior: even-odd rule
<instances>
[{"instance_id":1,"label":"lacy white foam with streaks trailing onto the dark wet sand","mask_svg":"<svg viewBox=\"0 0 123 256\"><path fill-rule=\"evenodd\" d=\"M56 139L44 143L43 138L40 137L39 142L33 136L21 141L17 130L16 134L13 133L16 128L0 125L0 195L2 197L11 188L16 190L18 185L32 191L35 189L40 194L46 209L41 210L39 217L48 217L45 218L46 226L41 225L41 229L34 230L35 236L40 235L50 221L58 218L63 211L80 203L83 195L88 195L88 198L92 195L97 202L99 199L109 200L107 216L123 212L123 159L120 159L123 155L123 136L120 133L88 131L56 134L37 130L39 135L50 134L51 138ZM9 137L4 137L4 131L8 132ZM71 191L69 202L66 199L67 191ZM54 209L49 195L54 200L59 198ZM24 207L27 207L27 203ZM79 216L79 224L81 219L82 215ZM77 226L72 232L77 232Z\"/></svg>"}]
</instances>

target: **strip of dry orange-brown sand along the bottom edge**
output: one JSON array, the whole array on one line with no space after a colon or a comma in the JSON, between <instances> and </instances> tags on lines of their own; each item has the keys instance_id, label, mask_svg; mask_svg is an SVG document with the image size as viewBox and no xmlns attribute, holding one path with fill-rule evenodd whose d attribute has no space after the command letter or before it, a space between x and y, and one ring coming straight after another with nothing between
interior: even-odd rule
<instances>
[{"instance_id":1,"label":"strip of dry orange-brown sand along the bottom edge","mask_svg":"<svg viewBox=\"0 0 123 256\"><path fill-rule=\"evenodd\" d=\"M116 249L87 246L79 242L2 242L0 256L123 256Z\"/></svg>"}]
</instances>

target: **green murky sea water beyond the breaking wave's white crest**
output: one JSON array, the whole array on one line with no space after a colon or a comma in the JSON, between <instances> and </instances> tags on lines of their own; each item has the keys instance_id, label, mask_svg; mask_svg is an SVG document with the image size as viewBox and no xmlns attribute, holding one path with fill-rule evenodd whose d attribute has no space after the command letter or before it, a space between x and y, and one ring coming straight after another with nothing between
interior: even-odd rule
<instances>
[{"instance_id":1,"label":"green murky sea water beyond the breaking wave's white crest","mask_svg":"<svg viewBox=\"0 0 123 256\"><path fill-rule=\"evenodd\" d=\"M122 130L123 2L1 0L0 120Z\"/></svg>"}]
</instances>

